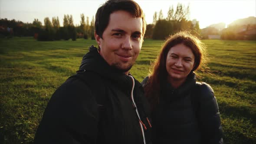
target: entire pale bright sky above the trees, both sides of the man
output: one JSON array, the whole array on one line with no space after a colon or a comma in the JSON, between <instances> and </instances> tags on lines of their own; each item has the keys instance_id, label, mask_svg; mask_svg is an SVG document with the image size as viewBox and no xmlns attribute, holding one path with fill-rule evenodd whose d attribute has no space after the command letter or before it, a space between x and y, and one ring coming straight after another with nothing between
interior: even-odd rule
<instances>
[{"instance_id":1,"label":"entire pale bright sky above the trees, both sides of the man","mask_svg":"<svg viewBox=\"0 0 256 144\"><path fill-rule=\"evenodd\" d=\"M200 28L215 23L226 23L234 20L256 17L256 0L135 0L145 13L146 23L153 21L154 12L162 10L167 17L169 7L176 9L177 3L190 7L189 20L199 21ZM105 0L0 0L0 19L20 20L32 23L35 18L43 23L45 17L50 20L59 16L62 25L64 14L72 14L74 24L80 24L80 14L92 20L98 7Z\"/></svg>"}]
</instances>

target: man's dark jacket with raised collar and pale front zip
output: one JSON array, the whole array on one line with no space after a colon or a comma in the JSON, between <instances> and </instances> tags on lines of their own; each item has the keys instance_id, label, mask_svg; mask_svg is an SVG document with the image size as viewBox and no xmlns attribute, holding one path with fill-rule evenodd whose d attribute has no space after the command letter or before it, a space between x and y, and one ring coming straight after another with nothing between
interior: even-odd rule
<instances>
[{"instance_id":1,"label":"man's dark jacket with raised collar and pale front zip","mask_svg":"<svg viewBox=\"0 0 256 144\"><path fill-rule=\"evenodd\" d=\"M149 106L142 85L109 66L94 46L79 69L90 79L84 82L72 76L54 92L37 129L35 144L144 144L143 137L149 144ZM98 85L90 85L92 81ZM131 100L133 84L135 104ZM101 103L95 94L102 94Z\"/></svg>"}]
</instances>

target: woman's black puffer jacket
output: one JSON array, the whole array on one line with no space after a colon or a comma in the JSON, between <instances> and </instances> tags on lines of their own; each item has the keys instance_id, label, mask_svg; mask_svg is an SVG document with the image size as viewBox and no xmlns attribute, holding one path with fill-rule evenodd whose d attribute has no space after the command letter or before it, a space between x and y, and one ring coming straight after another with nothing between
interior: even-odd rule
<instances>
[{"instance_id":1,"label":"woman's black puffer jacket","mask_svg":"<svg viewBox=\"0 0 256 144\"><path fill-rule=\"evenodd\" d=\"M154 144L223 144L213 89L204 82L199 89L195 84L195 74L190 73L177 89L167 82L161 86L159 105L152 112Z\"/></svg>"}]
</instances>

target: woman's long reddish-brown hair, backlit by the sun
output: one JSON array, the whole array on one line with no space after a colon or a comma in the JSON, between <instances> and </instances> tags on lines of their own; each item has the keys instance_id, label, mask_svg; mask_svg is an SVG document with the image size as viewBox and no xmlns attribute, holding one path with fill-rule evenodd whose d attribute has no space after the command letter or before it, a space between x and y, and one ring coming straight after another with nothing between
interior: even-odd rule
<instances>
[{"instance_id":1,"label":"woman's long reddish-brown hair, backlit by the sun","mask_svg":"<svg viewBox=\"0 0 256 144\"><path fill-rule=\"evenodd\" d=\"M149 74L148 82L144 85L145 96L148 98L148 101L151 105L151 110L153 110L156 105L158 105L161 85L166 82L167 79L167 53L173 46L176 46L177 44L184 44L192 50L195 56L195 66L191 72L194 72L197 69L201 69L203 71L204 68L206 68L206 47L200 41L200 39L186 31L176 33L173 36L167 38L157 59L151 65L152 72Z\"/></svg>"}]
</instances>

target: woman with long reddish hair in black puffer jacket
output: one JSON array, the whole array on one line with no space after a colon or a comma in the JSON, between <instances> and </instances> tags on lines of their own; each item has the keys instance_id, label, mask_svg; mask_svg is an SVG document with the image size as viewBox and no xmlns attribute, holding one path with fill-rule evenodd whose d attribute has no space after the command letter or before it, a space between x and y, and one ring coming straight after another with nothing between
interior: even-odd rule
<instances>
[{"instance_id":1,"label":"woman with long reddish hair in black puffer jacket","mask_svg":"<svg viewBox=\"0 0 256 144\"><path fill-rule=\"evenodd\" d=\"M197 37L180 32L162 46L153 71L142 82L151 104L154 144L223 144L213 89L196 82L206 53Z\"/></svg>"}]
</instances>

